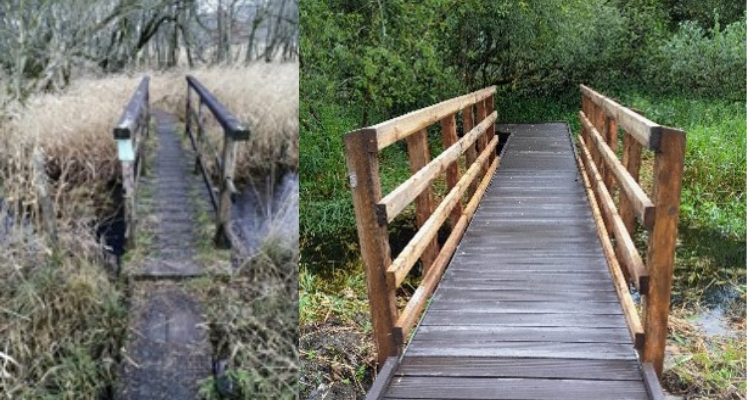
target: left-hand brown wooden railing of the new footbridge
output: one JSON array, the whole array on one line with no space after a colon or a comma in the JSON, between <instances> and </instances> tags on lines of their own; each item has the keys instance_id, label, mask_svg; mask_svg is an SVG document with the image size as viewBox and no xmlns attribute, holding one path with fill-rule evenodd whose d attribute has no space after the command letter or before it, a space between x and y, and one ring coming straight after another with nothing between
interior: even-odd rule
<instances>
[{"instance_id":1,"label":"left-hand brown wooden railing of the new footbridge","mask_svg":"<svg viewBox=\"0 0 747 400\"><path fill-rule=\"evenodd\" d=\"M494 94L495 87L489 87L345 136L379 365L401 353L498 166ZM464 128L461 138L456 123L460 112ZM444 151L431 160L427 128L435 123L441 126ZM399 140L407 143L412 176L383 196L379 151ZM466 171L460 176L458 159L462 154ZM448 194L437 203L433 181L443 173ZM465 192L468 201L463 205ZM392 261L387 225L413 201L418 232ZM446 220L450 221L451 234L440 247L437 234ZM418 259L423 265L423 279L400 312L396 291Z\"/></svg>"}]
</instances>

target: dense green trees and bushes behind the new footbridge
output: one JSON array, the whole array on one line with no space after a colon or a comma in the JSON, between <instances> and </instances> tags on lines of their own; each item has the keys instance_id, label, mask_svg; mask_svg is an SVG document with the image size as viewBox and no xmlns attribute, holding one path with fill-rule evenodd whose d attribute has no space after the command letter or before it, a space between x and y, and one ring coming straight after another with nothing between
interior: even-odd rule
<instances>
[{"instance_id":1,"label":"dense green trees and bushes behind the new footbridge","mask_svg":"<svg viewBox=\"0 0 747 400\"><path fill-rule=\"evenodd\" d=\"M608 93L743 101L745 6L737 3L305 2L304 244L354 237L342 150L346 131L459 93L498 85L501 99L562 98L570 106L584 82ZM529 118L513 113L511 119Z\"/></svg>"}]
</instances>

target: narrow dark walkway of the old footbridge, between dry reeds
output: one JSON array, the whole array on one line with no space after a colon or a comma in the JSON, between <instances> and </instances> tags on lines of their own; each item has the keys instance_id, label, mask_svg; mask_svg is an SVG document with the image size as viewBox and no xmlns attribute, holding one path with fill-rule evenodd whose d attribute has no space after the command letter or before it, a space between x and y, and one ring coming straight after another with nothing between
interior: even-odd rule
<instances>
[{"instance_id":1,"label":"narrow dark walkway of the old footbridge, between dry reeds","mask_svg":"<svg viewBox=\"0 0 747 400\"><path fill-rule=\"evenodd\" d=\"M150 227L149 249L134 263L128 341L118 399L196 399L198 381L210 376L211 348L199 301L180 283L203 273L196 262L196 206L191 174L194 158L185 154L176 119L154 111L157 146L151 176L144 178L141 219ZM146 225L148 222L145 223ZM138 227L141 229L141 227ZM141 234L141 233L138 233Z\"/></svg>"}]
</instances>

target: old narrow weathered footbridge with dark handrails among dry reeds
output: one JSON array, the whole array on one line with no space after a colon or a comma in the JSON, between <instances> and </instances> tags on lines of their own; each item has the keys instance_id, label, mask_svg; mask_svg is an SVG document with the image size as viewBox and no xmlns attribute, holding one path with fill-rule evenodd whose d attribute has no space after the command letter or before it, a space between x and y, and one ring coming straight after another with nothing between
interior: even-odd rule
<instances>
[{"instance_id":1,"label":"old narrow weathered footbridge with dark handrails among dry reeds","mask_svg":"<svg viewBox=\"0 0 747 400\"><path fill-rule=\"evenodd\" d=\"M151 113L147 77L113 130L123 174L127 246L137 247L141 255L124 266L133 282L116 399L197 399L199 382L213 373L200 299L183 281L228 273L197 256L196 215L202 205L212 205L215 245L237 244L229 228L236 192L232 177L237 141L246 140L249 131L195 78L186 81L190 145L179 137L175 116ZM208 112L222 128L222 153L208 135ZM151 120L155 137L149 137ZM147 243L141 243L143 237Z\"/></svg>"}]
</instances>

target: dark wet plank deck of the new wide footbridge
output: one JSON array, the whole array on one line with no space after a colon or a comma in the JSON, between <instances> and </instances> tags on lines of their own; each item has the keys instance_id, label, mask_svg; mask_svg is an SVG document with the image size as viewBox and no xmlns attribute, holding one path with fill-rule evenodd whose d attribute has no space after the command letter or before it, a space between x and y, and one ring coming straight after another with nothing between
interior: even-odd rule
<instances>
[{"instance_id":1,"label":"dark wet plank deck of the new wide footbridge","mask_svg":"<svg viewBox=\"0 0 747 400\"><path fill-rule=\"evenodd\" d=\"M496 128L501 165L381 397L649 399L567 126Z\"/></svg>"}]
</instances>

